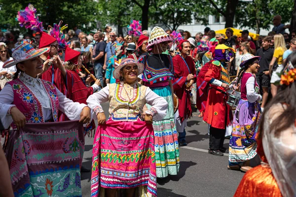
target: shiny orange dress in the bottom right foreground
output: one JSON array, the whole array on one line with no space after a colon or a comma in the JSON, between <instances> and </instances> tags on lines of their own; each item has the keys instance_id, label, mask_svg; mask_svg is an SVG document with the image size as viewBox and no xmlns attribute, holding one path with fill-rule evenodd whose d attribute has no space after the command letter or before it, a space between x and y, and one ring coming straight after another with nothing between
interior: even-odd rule
<instances>
[{"instance_id":1,"label":"shiny orange dress in the bottom right foreground","mask_svg":"<svg viewBox=\"0 0 296 197\"><path fill-rule=\"evenodd\" d=\"M234 197L283 197L272 170L267 164L262 140L257 139L257 144L257 152L266 164L260 164L246 172Z\"/></svg>"}]
</instances>

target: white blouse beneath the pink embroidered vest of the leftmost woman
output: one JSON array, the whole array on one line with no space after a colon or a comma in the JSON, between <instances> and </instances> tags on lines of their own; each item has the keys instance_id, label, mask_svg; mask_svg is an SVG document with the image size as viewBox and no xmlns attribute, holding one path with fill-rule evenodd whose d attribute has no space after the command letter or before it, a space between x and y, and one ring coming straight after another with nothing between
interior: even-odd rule
<instances>
[{"instance_id":1,"label":"white blouse beneath the pink embroidered vest of the leftmost woman","mask_svg":"<svg viewBox=\"0 0 296 197\"><path fill-rule=\"evenodd\" d=\"M24 82L24 84L33 92L38 101L41 103L44 120L51 120L51 102L40 79L33 78L23 72L21 72L19 79ZM73 102L72 100L66 98L66 96L63 95L57 88L56 91L59 99L59 110L65 113L70 120L79 120L83 107L87 105ZM6 84L0 91L0 120L4 129L7 129L13 122L11 115L7 113L11 106L15 106L11 104L13 102L13 95L14 93L12 87L9 84Z\"/></svg>"}]
</instances>

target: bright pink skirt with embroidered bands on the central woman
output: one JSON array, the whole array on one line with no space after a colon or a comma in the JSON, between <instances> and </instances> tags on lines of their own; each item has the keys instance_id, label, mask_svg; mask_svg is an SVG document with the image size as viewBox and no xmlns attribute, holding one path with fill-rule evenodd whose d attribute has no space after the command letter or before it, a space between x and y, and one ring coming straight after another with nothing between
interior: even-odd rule
<instances>
[{"instance_id":1,"label":"bright pink skirt with embroidered bands on the central woman","mask_svg":"<svg viewBox=\"0 0 296 197\"><path fill-rule=\"evenodd\" d=\"M142 121L107 121L94 138L91 196L100 188L147 186L156 196L156 164L152 125Z\"/></svg>"}]
</instances>

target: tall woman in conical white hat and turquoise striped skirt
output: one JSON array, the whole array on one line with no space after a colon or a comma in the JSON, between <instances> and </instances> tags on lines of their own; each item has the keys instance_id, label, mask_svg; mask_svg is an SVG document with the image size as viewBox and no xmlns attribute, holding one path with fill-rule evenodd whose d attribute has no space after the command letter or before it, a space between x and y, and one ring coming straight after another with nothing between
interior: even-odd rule
<instances>
[{"instance_id":1,"label":"tall woman in conical white hat and turquoise striped skirt","mask_svg":"<svg viewBox=\"0 0 296 197\"><path fill-rule=\"evenodd\" d=\"M174 79L174 66L172 57L165 53L168 43L172 40L173 37L165 33L162 28L154 27L147 44L151 52L138 60L144 64L144 71L141 74L144 85L169 103L164 119L153 122L156 175L160 178L169 174L176 175L180 166L178 134L174 120L174 91L171 82Z\"/></svg>"}]
</instances>

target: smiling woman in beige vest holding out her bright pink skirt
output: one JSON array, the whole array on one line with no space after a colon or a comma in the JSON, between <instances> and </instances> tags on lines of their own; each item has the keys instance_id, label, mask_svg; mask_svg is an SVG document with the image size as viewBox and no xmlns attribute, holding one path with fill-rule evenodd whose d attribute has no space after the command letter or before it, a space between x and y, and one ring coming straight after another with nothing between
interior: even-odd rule
<instances>
[{"instance_id":1,"label":"smiling woman in beige vest holding out her bright pink skirt","mask_svg":"<svg viewBox=\"0 0 296 197\"><path fill-rule=\"evenodd\" d=\"M127 189L127 197L156 196L152 119L165 117L168 103L138 83L143 67L133 59L123 60L113 71L120 82L108 84L87 99L99 124L93 146L92 197L114 197L118 188ZM101 103L107 101L110 117L106 122ZM152 107L142 117L146 103Z\"/></svg>"}]
</instances>

